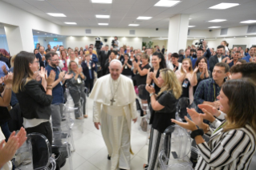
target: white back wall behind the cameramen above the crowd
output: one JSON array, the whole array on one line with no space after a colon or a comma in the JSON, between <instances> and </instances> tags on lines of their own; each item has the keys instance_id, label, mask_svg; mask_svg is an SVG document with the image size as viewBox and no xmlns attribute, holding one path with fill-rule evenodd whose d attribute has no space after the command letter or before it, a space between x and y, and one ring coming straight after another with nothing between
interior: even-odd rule
<instances>
[{"instance_id":1,"label":"white back wall behind the cameramen above the crowd","mask_svg":"<svg viewBox=\"0 0 256 170\"><path fill-rule=\"evenodd\" d=\"M104 38L108 39L108 42L104 42ZM104 43L104 45L107 45L111 47L113 37L100 37L100 40ZM141 49L142 48L142 38L132 38L132 37L122 37L118 39L120 42L120 47L126 45L126 46L132 46L133 49ZM95 44L95 37L76 37L76 36L68 36L66 38L66 47L85 47L85 45L89 44Z\"/></svg>"}]
</instances>

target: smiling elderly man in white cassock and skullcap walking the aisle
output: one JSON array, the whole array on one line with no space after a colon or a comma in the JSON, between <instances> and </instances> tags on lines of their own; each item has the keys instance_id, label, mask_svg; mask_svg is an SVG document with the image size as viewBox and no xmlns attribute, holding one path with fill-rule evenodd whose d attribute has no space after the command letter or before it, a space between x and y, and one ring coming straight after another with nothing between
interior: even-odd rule
<instances>
[{"instance_id":1,"label":"smiling elderly man in white cassock and skullcap walking the aisle","mask_svg":"<svg viewBox=\"0 0 256 170\"><path fill-rule=\"evenodd\" d=\"M121 75L122 63L113 59L109 75L97 79L91 91L93 121L111 157L111 170L130 169L131 122L136 123L136 94L132 79ZM133 154L133 153L132 153Z\"/></svg>"}]
</instances>

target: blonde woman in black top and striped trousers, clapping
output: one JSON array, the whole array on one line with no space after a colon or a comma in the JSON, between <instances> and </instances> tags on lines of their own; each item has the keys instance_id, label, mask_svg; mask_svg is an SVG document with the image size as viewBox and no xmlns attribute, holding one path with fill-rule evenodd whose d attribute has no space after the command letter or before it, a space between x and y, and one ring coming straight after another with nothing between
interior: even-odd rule
<instances>
[{"instance_id":1,"label":"blonde woman in black top and striped trousers, clapping","mask_svg":"<svg viewBox=\"0 0 256 170\"><path fill-rule=\"evenodd\" d=\"M181 83L170 69L162 69L157 81L161 87L158 93L152 85L146 86L152 105L152 115L149 121L152 128L148 145L148 164L144 164L144 169L148 170L155 170L160 166L158 155L161 151L163 133L167 127L174 124L171 119L175 119L177 101L182 93Z\"/></svg>"}]
</instances>

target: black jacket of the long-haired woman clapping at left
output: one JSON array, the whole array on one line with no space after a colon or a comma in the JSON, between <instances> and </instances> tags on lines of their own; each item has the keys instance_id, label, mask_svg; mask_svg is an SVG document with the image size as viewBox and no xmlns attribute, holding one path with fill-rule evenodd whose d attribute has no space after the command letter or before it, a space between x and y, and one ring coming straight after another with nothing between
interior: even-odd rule
<instances>
[{"instance_id":1,"label":"black jacket of the long-haired woman clapping at left","mask_svg":"<svg viewBox=\"0 0 256 170\"><path fill-rule=\"evenodd\" d=\"M26 119L50 119L53 97L47 95L41 83L30 80L24 90L16 93L22 117Z\"/></svg>"}]
</instances>

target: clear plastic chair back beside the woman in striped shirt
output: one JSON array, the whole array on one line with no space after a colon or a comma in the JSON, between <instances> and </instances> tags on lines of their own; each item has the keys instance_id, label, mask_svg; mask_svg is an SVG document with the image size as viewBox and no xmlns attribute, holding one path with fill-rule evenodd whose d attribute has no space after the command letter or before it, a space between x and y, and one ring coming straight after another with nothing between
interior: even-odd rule
<instances>
[{"instance_id":1,"label":"clear plastic chair back beside the woman in striped shirt","mask_svg":"<svg viewBox=\"0 0 256 170\"><path fill-rule=\"evenodd\" d=\"M189 153L191 138L185 128L172 125L165 129L162 136L159 162L161 169L190 169Z\"/></svg>"}]
</instances>

